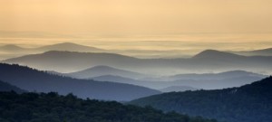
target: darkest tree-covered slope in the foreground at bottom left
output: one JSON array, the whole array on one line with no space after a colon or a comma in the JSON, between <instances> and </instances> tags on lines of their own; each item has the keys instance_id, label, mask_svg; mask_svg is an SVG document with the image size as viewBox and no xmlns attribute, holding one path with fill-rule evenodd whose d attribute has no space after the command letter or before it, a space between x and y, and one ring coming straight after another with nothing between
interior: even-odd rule
<instances>
[{"instance_id":1,"label":"darkest tree-covered slope in the foreground at bottom left","mask_svg":"<svg viewBox=\"0 0 272 122\"><path fill-rule=\"evenodd\" d=\"M217 122L118 102L77 99L72 94L0 92L1 122Z\"/></svg>"}]
</instances>

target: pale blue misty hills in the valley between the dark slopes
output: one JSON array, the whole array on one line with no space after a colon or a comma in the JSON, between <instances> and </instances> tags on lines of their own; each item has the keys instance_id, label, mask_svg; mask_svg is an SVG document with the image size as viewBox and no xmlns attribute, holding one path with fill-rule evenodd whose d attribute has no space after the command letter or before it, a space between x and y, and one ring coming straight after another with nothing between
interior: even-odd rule
<instances>
[{"instance_id":1,"label":"pale blue misty hills in the valley between the dark slopes","mask_svg":"<svg viewBox=\"0 0 272 122\"><path fill-rule=\"evenodd\" d=\"M187 87L198 89L224 89L229 87L239 87L267 77L266 75L244 70L230 70L226 72L203 74L177 74L158 77L132 72L130 70L120 70L109 66L97 66L73 73L51 73L75 79L112 81L148 87L151 89L168 89L168 91L183 91L188 89ZM209 85L209 83L212 85ZM187 87L184 88L184 86Z\"/></svg>"}]
</instances>

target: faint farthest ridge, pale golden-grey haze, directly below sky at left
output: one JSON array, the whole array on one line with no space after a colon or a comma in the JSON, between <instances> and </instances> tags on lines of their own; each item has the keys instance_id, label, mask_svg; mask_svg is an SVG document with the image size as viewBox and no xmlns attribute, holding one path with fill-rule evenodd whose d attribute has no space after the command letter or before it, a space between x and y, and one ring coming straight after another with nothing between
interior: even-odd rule
<instances>
[{"instance_id":1,"label":"faint farthest ridge, pale golden-grey haze, directly below sky at left","mask_svg":"<svg viewBox=\"0 0 272 122\"><path fill-rule=\"evenodd\" d=\"M80 45L72 42L56 43L37 48L25 48L15 44L0 46L0 60L15 58L26 54L34 54L49 51L68 51L68 52L113 52L125 55L131 55L141 58L161 58L161 57L180 57L186 56L181 50L104 50L92 46Z\"/></svg>"}]
</instances>

